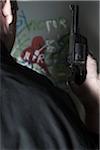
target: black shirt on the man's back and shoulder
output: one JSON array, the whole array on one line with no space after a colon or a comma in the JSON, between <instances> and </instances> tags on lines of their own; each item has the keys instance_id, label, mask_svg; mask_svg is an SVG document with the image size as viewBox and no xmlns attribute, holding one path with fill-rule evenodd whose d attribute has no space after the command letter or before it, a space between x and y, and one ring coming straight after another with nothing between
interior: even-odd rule
<instances>
[{"instance_id":1,"label":"black shirt on the man's back and shoulder","mask_svg":"<svg viewBox=\"0 0 100 150\"><path fill-rule=\"evenodd\" d=\"M0 64L1 150L95 149L63 90L9 56Z\"/></svg>"}]
</instances>

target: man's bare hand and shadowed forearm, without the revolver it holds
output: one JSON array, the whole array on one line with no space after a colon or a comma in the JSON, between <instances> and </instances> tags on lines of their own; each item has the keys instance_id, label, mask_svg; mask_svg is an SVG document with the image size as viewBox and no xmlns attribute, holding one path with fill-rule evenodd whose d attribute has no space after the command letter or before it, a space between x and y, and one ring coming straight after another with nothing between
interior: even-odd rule
<instances>
[{"instance_id":1,"label":"man's bare hand and shadowed forearm, without the revolver it holds","mask_svg":"<svg viewBox=\"0 0 100 150\"><path fill-rule=\"evenodd\" d=\"M84 105L87 128L99 133L100 74L97 74L96 61L90 55L87 58L85 82L81 86L71 84L71 88Z\"/></svg>"}]
</instances>

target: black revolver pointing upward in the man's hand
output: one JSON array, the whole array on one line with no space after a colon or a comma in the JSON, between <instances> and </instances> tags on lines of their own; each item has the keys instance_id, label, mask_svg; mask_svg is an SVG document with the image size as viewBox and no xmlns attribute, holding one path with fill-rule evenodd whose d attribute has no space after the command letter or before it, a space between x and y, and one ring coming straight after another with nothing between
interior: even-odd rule
<instances>
[{"instance_id":1,"label":"black revolver pointing upward in the man's hand","mask_svg":"<svg viewBox=\"0 0 100 150\"><path fill-rule=\"evenodd\" d=\"M71 73L70 81L74 81L76 84L81 85L87 74L86 61L88 55L88 45L87 39L79 32L79 6L70 5L70 9L72 21L67 63Z\"/></svg>"}]
</instances>

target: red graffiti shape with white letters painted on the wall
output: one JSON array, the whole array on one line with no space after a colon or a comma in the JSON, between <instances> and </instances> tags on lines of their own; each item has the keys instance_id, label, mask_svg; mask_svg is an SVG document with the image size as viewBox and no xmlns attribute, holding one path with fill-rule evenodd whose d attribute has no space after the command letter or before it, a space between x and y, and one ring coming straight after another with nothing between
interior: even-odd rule
<instances>
[{"instance_id":1,"label":"red graffiti shape with white letters painted on the wall","mask_svg":"<svg viewBox=\"0 0 100 150\"><path fill-rule=\"evenodd\" d=\"M46 73L49 74L47 65L44 59L44 51L46 50L43 37L36 36L33 38L31 46L23 50L20 57L28 64L39 65Z\"/></svg>"}]
</instances>

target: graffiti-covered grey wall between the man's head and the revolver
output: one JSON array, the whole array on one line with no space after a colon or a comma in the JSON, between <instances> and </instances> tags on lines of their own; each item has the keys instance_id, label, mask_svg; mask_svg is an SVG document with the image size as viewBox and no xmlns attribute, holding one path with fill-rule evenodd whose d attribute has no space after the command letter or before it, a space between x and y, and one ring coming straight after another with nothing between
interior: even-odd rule
<instances>
[{"instance_id":1,"label":"graffiti-covered grey wall between the man's head and the revolver","mask_svg":"<svg viewBox=\"0 0 100 150\"><path fill-rule=\"evenodd\" d=\"M68 2L18 2L17 38L11 55L18 63L64 87L70 26Z\"/></svg>"}]
</instances>

